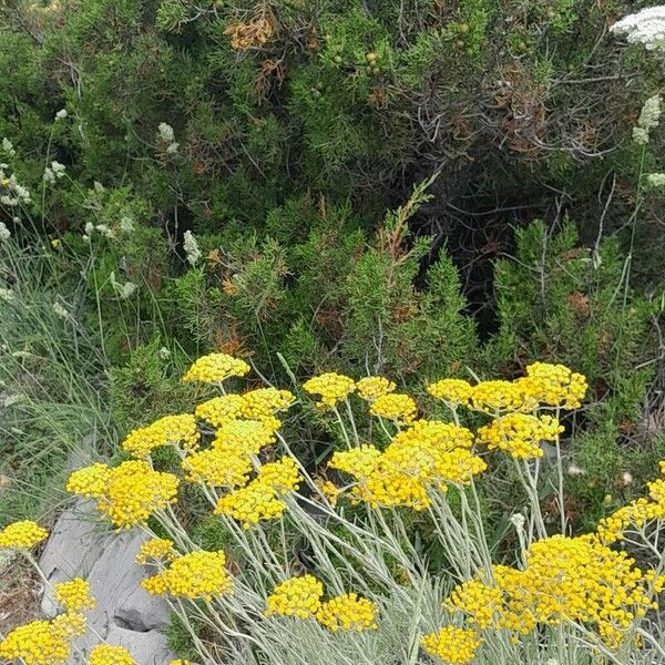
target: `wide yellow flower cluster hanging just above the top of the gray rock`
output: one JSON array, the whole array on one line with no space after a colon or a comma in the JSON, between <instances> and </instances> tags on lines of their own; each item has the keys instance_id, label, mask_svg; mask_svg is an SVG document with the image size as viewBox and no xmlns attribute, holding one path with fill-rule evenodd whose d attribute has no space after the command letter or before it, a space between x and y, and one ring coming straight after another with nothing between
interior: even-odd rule
<instances>
[{"instance_id":1,"label":"wide yellow flower cluster hanging just above the top of the gray rock","mask_svg":"<svg viewBox=\"0 0 665 665\"><path fill-rule=\"evenodd\" d=\"M98 510L117 529L144 523L156 510L175 503L178 480L172 473L155 471L143 460L129 460L117 467L93 464L74 471L66 490L96 500Z\"/></svg>"}]
</instances>

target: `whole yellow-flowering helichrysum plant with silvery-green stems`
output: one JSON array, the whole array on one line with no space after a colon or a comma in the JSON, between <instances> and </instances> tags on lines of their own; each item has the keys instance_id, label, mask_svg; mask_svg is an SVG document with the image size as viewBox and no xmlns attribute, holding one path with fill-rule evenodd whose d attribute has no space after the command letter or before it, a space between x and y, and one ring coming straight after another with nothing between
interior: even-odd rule
<instances>
[{"instance_id":1,"label":"whole yellow-flowering helichrysum plant with silvery-green stems","mask_svg":"<svg viewBox=\"0 0 665 665\"><path fill-rule=\"evenodd\" d=\"M211 367L222 367L211 379L218 398L194 416L168 416L133 432L124 447L140 459L92 464L68 483L95 500L116 528L160 524L161 534L136 556L151 571L143 586L172 604L203 662L224 654L233 663L401 665L427 654L449 665L535 665L554 654L565 665L596 655L646 665L663 655L662 637L646 622L665 585L657 548L665 480L592 533L572 536L565 516L552 533L543 516L545 464L565 513L560 417L584 399L581 375L538 362L513 381L438 380L428 390L449 407L450 421L419 417L416 400L383 377L315 377L306 391L344 430L346 448L313 478L276 416L293 408L294 396L275 388L228 392L223 381L234 360L219 365L218 355L198 360L187 376L211 376ZM359 408L369 418L365 424L356 420ZM474 413L474 430L461 423L462 410ZM374 423L379 437L372 441ZM552 458L543 456L543 442L553 446ZM155 468L152 453L164 444L175 450L181 472ZM479 490L499 457L526 498L524 509L509 515L514 548L503 557L488 538ZM173 503L185 483L207 501L233 557L202 550L181 523ZM431 524L443 569L412 541L415 515ZM43 538L33 523L0 533L0 542L28 556ZM298 541L311 556L298 561ZM612 546L620 541L641 552L640 566ZM83 580L59 585L55 594L68 612L93 604ZM216 643L202 641L194 622L204 622ZM25 633L43 643L38 651L66 655L69 635L50 626ZM0 649L18 654L17 640L8 635ZM96 648L99 663L130 657L109 645Z\"/></svg>"}]
</instances>

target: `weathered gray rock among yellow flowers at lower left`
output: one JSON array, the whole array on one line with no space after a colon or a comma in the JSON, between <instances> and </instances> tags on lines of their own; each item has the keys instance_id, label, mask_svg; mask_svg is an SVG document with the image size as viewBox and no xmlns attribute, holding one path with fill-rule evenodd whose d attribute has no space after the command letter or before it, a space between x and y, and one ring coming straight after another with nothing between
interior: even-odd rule
<instances>
[{"instance_id":1,"label":"weathered gray rock among yellow flowers at lower left","mask_svg":"<svg viewBox=\"0 0 665 665\"><path fill-rule=\"evenodd\" d=\"M84 577L98 601L88 614L89 631L76 643L79 656L105 641L127 648L139 665L165 665L175 658L160 633L168 625L168 606L144 591L145 570L134 563L149 538L139 530L105 531L89 501L76 502L52 529L40 562L50 585ZM54 616L58 611L52 589L45 589L42 612Z\"/></svg>"}]
</instances>

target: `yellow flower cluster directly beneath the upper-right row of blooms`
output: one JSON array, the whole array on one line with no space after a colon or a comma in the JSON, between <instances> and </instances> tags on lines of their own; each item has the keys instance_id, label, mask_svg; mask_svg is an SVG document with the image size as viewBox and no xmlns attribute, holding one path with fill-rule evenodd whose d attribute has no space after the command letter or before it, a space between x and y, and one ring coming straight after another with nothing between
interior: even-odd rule
<instances>
[{"instance_id":1,"label":"yellow flower cluster directly beneath the upper-right row of blooms","mask_svg":"<svg viewBox=\"0 0 665 665\"><path fill-rule=\"evenodd\" d=\"M490 450L505 450L515 459L543 456L541 441L556 441L563 427L551 416L508 413L479 428L478 441L487 443Z\"/></svg>"}]
</instances>

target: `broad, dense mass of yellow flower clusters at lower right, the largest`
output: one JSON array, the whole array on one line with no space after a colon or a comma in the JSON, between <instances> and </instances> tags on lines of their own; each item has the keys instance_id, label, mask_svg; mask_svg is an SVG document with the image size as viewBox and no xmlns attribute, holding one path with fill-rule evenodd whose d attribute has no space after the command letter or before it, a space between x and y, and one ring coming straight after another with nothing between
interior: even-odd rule
<instances>
[{"instance_id":1,"label":"broad, dense mass of yellow flower clusters at lower right, the largest","mask_svg":"<svg viewBox=\"0 0 665 665\"><path fill-rule=\"evenodd\" d=\"M497 565L491 582L458 585L447 606L464 612L479 628L522 634L539 624L595 625L603 642L617 648L636 616L655 608L647 592L653 573L643 573L625 552L603 545L595 534L554 535L526 552L524 570Z\"/></svg>"}]
</instances>

